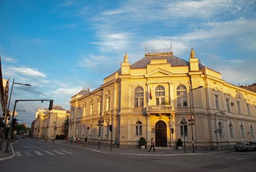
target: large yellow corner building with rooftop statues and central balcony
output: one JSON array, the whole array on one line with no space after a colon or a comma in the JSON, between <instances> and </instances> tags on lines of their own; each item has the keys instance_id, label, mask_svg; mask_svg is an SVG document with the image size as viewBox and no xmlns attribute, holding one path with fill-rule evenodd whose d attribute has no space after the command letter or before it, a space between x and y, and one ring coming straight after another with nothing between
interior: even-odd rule
<instances>
[{"instance_id":1,"label":"large yellow corner building with rooftop statues and central balcony","mask_svg":"<svg viewBox=\"0 0 256 172\"><path fill-rule=\"evenodd\" d=\"M156 147L173 148L181 138L188 149L256 141L256 93L227 83L203 66L193 49L188 59L158 50L130 64L125 54L100 88L71 98L69 137L106 145L112 136L121 147L138 147L145 137L148 145L153 138Z\"/></svg>"}]
</instances>

